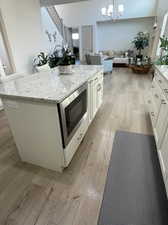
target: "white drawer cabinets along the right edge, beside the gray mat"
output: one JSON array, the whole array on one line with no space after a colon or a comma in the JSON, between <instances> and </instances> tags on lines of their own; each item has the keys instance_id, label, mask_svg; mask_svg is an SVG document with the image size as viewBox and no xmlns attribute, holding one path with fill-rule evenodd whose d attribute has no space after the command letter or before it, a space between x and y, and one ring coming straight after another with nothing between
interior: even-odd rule
<instances>
[{"instance_id":1,"label":"white drawer cabinets along the right edge, beside the gray mat","mask_svg":"<svg viewBox=\"0 0 168 225\"><path fill-rule=\"evenodd\" d=\"M156 66L148 103L159 162L168 194L168 79L166 71L162 71L162 68Z\"/></svg>"}]
</instances>

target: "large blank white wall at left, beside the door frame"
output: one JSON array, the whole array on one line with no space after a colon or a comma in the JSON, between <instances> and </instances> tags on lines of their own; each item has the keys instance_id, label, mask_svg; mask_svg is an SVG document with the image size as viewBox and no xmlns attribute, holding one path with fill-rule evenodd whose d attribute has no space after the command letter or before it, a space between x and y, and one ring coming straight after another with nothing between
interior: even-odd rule
<instances>
[{"instance_id":1,"label":"large blank white wall at left, beside the door frame","mask_svg":"<svg viewBox=\"0 0 168 225\"><path fill-rule=\"evenodd\" d=\"M38 0L0 0L17 72L32 72L32 58L46 48Z\"/></svg>"}]
</instances>

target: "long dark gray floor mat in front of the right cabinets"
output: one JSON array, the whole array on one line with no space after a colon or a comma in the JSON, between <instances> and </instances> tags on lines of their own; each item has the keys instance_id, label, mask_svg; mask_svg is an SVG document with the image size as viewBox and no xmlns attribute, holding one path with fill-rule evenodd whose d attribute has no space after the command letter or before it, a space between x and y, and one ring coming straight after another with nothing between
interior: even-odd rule
<instances>
[{"instance_id":1,"label":"long dark gray floor mat in front of the right cabinets","mask_svg":"<svg viewBox=\"0 0 168 225\"><path fill-rule=\"evenodd\" d=\"M153 136L116 133L98 225L168 225Z\"/></svg>"}]
</instances>

